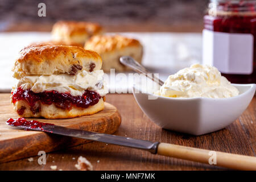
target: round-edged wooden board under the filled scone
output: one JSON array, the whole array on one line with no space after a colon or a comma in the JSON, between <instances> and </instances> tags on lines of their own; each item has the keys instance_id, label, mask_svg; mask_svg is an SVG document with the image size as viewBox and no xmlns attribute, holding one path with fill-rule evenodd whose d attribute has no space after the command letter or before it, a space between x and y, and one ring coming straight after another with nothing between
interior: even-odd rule
<instances>
[{"instance_id":1,"label":"round-edged wooden board under the filled scone","mask_svg":"<svg viewBox=\"0 0 256 182\"><path fill-rule=\"evenodd\" d=\"M10 103L10 94L0 95L0 163L38 155L39 151L51 152L61 148L90 142L89 140L25 131L6 125L8 118L18 118ZM112 134L121 124L116 107L105 102L105 109L84 117L72 119L36 119L55 125Z\"/></svg>"}]
</instances>

